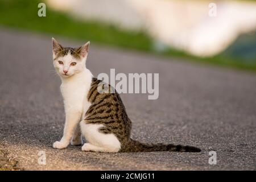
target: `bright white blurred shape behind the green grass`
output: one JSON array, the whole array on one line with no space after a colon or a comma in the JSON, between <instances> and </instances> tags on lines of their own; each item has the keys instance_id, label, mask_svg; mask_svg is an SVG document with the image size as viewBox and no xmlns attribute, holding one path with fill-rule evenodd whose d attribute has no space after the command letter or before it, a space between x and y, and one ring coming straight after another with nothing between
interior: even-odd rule
<instances>
[{"instance_id":1,"label":"bright white blurred shape behind the green grass","mask_svg":"<svg viewBox=\"0 0 256 182\"><path fill-rule=\"evenodd\" d=\"M138 31L143 28L157 43L197 56L212 56L238 35L256 29L256 3L217 1L217 16L209 16L212 1L74 0L48 1L55 9Z\"/></svg>"}]
</instances>

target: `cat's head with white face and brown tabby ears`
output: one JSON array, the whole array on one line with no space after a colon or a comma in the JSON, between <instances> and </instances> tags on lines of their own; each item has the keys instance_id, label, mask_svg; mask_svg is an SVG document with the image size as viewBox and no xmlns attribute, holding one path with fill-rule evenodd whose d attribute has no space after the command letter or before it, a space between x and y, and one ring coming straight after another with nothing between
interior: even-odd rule
<instances>
[{"instance_id":1,"label":"cat's head with white face and brown tabby ears","mask_svg":"<svg viewBox=\"0 0 256 182\"><path fill-rule=\"evenodd\" d=\"M67 78L85 69L90 42L79 48L63 47L52 38L53 66L60 77Z\"/></svg>"}]
</instances>

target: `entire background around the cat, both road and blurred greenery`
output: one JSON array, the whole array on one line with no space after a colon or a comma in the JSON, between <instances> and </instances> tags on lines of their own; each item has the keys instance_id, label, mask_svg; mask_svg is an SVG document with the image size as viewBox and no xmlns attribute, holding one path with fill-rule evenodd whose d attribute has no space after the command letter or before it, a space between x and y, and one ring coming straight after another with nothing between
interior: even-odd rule
<instances>
[{"instance_id":1,"label":"entire background around the cat, both road and blurred greenery","mask_svg":"<svg viewBox=\"0 0 256 182\"><path fill-rule=\"evenodd\" d=\"M52 37L63 46L90 40L86 66L95 77L110 68L159 73L157 100L121 94L132 137L202 152L52 148L65 121ZM0 0L0 171L255 170L255 72L256 1Z\"/></svg>"}]
</instances>

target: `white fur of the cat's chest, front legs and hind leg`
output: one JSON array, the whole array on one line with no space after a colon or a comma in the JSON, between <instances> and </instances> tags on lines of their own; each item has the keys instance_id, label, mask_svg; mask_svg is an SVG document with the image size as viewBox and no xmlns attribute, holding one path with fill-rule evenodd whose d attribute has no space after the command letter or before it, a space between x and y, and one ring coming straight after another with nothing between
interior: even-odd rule
<instances>
[{"instance_id":1,"label":"white fur of the cat's chest, front legs and hind leg","mask_svg":"<svg viewBox=\"0 0 256 182\"><path fill-rule=\"evenodd\" d=\"M91 103L87 100L87 95L92 84L92 73L85 69L83 72L77 73L70 78L62 78L60 86L61 93L64 99L64 107L66 121L64 126L63 138L60 142L53 143L55 148L65 148L79 132L74 132L79 121L83 120L85 113ZM98 131L102 124L88 124L84 121L80 122L81 133L86 138L88 143L82 146L84 151L101 151L101 152L118 152L121 148L121 143L114 134L102 134ZM80 144L82 143L81 137ZM76 141L76 140L74 140ZM73 139L72 139L73 142Z\"/></svg>"}]
</instances>

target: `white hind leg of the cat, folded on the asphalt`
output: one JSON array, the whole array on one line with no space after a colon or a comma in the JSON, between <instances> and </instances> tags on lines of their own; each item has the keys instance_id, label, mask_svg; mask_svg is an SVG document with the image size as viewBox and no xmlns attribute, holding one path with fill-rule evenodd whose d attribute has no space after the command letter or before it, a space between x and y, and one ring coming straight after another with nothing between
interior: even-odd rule
<instances>
[{"instance_id":1,"label":"white hind leg of the cat, folded on the asphalt","mask_svg":"<svg viewBox=\"0 0 256 182\"><path fill-rule=\"evenodd\" d=\"M121 143L114 134L104 134L99 131L102 124L80 122L82 135L86 142L82 146L83 151L95 152L118 152L121 149Z\"/></svg>"}]
</instances>

